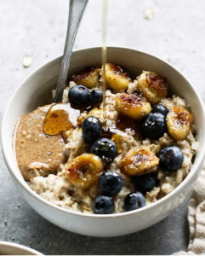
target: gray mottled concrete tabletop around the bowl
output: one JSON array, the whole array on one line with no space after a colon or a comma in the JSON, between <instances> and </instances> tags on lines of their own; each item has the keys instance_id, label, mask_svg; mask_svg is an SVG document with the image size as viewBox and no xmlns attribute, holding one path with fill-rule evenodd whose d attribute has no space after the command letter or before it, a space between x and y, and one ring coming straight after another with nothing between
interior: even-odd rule
<instances>
[{"instance_id":1,"label":"gray mottled concrete tabletop around the bowl","mask_svg":"<svg viewBox=\"0 0 205 256\"><path fill-rule=\"evenodd\" d=\"M152 20L144 19L145 8L154 10ZM67 0L0 0L1 117L20 82L45 61L62 54L67 9ZM203 0L109 0L107 44L170 55L170 62L194 82L204 99L204 9ZM101 1L90 0L75 49L100 44ZM31 55L31 67L22 66L25 55ZM79 236L48 223L26 204L0 156L0 241L14 238L44 254L170 254L185 250L188 201L137 234Z\"/></svg>"}]
</instances>

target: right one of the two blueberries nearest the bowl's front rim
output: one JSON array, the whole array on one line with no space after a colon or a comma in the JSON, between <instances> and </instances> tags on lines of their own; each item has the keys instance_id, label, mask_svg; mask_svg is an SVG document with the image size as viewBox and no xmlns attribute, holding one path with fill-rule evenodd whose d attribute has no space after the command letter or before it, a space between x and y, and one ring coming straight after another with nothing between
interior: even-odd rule
<instances>
[{"instance_id":1,"label":"right one of the two blueberries nearest the bowl's front rim","mask_svg":"<svg viewBox=\"0 0 205 256\"><path fill-rule=\"evenodd\" d=\"M124 200L124 207L126 211L134 211L145 207L145 197L140 192L129 193Z\"/></svg>"}]
</instances>

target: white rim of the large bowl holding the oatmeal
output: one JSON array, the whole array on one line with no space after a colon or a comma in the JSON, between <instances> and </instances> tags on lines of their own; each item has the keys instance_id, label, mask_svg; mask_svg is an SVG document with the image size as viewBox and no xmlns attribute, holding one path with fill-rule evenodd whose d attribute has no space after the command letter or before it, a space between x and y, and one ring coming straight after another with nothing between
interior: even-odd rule
<instances>
[{"instance_id":1,"label":"white rim of the large bowl holding the oatmeal","mask_svg":"<svg viewBox=\"0 0 205 256\"><path fill-rule=\"evenodd\" d=\"M97 50L97 49L101 49L102 46L94 46L94 47L89 47L89 48L83 48L83 49L77 49L74 50L73 53L80 55L83 51L87 51L87 50ZM197 101L200 105L200 107L202 108L202 113L203 113L203 121L205 120L205 107L204 104L202 102L202 98L199 95L198 91L196 90L195 86L191 83L191 81L183 74L179 71L178 68L174 67L174 65L172 65L171 63L169 63L168 61L164 61L161 58L157 57L156 55L152 55L148 52L145 52L143 50L140 49L134 49L134 48L128 48L128 47L121 47L121 46L107 46L107 49L127 49L127 50L133 50L133 51L137 51L140 54L143 55L148 55L154 59L156 59L157 61L162 61L164 62L168 67L171 67L172 69L174 69L175 72L179 73L180 76L182 76L186 82L188 84L190 84L191 89L194 90L196 97L197 97ZM191 166L191 172L189 172L189 175L187 175L187 177L185 177L185 180L179 184L179 186L177 188L175 188L171 193L169 193L168 195L162 197L162 199L160 199L159 201L156 201L154 203L149 204L146 207L142 207L140 209L134 210L134 211L130 211L130 212L120 212L120 213L112 213L112 214L93 214L93 213L84 213L84 212L75 212L69 209L65 209L63 207L59 207L57 205L55 205L54 203L47 201L45 199L43 199L43 197L41 197L40 195L37 195L36 192L34 192L25 182L25 180L21 179L20 177L18 177L16 175L15 170L13 170L12 166L9 163L9 152L7 152L8 150L7 148L7 143L6 140L4 139L4 130L6 130L6 117L8 116L8 112L9 112L9 105L13 102L15 95L17 94L18 90L20 90L20 87L25 84L27 79L30 79L31 76L35 75L35 73L37 73L41 68L47 66L48 64L57 61L57 59L61 58L62 55L54 57L53 59L51 59L50 61L47 61L45 63L43 63L43 65L41 65L40 67L37 67L33 72L31 72L26 79L24 79L21 84L17 87L17 89L14 91L13 96L10 98L9 103L7 105L7 108L3 114L3 120L2 120L2 126L1 126L1 143L2 143L2 151L3 151L3 158L4 161L6 163L6 165L8 166L9 172L12 174L12 176L14 177L14 179L17 181L17 183L20 184L21 188L26 190L26 192L28 192L29 194L31 194L33 197L35 197L38 201L41 201L43 203L45 203L46 205L48 205L48 207L53 207L56 210L60 210L62 212L66 212L66 213L70 213L73 215L77 215L80 217L84 217L84 218L121 218L123 216L129 216L129 215L133 215L135 213L142 213L145 211L148 211L150 209L153 209L155 207L157 207L159 204L164 203L165 201L168 201L170 199L172 199L175 195L177 195L179 193L180 190L182 190L183 188L185 188L186 183L189 183L192 179L192 177L194 176L195 172L198 170L198 168L202 165L202 161L204 159L205 156L205 136L203 137L203 140L200 141L200 143L202 144L202 150L201 150L201 154L197 156L197 159L195 160L193 166ZM18 168L18 166L16 166ZM20 170L19 170L20 172Z\"/></svg>"}]
</instances>

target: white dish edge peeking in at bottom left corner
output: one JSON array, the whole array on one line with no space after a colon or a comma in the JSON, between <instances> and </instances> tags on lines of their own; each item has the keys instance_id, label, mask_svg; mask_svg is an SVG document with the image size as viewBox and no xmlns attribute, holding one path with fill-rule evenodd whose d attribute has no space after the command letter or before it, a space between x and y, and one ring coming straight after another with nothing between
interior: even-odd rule
<instances>
[{"instance_id":1,"label":"white dish edge peeking in at bottom left corner","mask_svg":"<svg viewBox=\"0 0 205 256\"><path fill-rule=\"evenodd\" d=\"M0 255L43 255L37 251L14 242L0 241Z\"/></svg>"}]
</instances>

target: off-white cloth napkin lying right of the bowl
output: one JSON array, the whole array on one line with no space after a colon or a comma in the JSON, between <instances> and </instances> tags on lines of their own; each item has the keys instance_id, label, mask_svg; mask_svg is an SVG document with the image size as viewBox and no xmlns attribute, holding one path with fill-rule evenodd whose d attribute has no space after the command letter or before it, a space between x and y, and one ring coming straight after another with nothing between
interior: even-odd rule
<instances>
[{"instance_id":1,"label":"off-white cloth napkin lying right of the bowl","mask_svg":"<svg viewBox=\"0 0 205 256\"><path fill-rule=\"evenodd\" d=\"M196 255L205 252L205 166L191 195L188 220L190 225L188 253L179 252L174 255Z\"/></svg>"}]
</instances>

